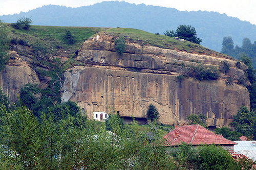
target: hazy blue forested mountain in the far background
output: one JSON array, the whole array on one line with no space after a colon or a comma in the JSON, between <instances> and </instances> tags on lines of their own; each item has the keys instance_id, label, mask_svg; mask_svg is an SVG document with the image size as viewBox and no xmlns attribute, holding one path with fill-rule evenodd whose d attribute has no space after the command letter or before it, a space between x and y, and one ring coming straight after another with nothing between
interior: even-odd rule
<instances>
[{"instance_id":1,"label":"hazy blue forested mountain in the far background","mask_svg":"<svg viewBox=\"0 0 256 170\"><path fill-rule=\"evenodd\" d=\"M179 25L196 28L202 45L221 51L222 39L233 38L241 45L243 38L256 39L256 26L226 14L206 11L178 11L174 8L135 5L125 2L102 2L91 6L67 8L48 5L14 15L0 16L4 22L16 22L20 17L31 17L33 25L124 27L163 34Z\"/></svg>"}]
</instances>

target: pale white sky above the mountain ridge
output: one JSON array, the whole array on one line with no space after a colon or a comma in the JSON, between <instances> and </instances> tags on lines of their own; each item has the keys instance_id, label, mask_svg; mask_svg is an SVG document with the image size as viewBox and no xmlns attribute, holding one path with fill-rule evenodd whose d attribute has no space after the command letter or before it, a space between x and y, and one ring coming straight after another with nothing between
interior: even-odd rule
<instances>
[{"instance_id":1,"label":"pale white sky above the mountain ridge","mask_svg":"<svg viewBox=\"0 0 256 170\"><path fill-rule=\"evenodd\" d=\"M102 0L0 0L0 15L27 12L49 4L80 7L100 2ZM256 0L125 0L125 2L170 7L180 11L215 11L256 25Z\"/></svg>"}]
</instances>

